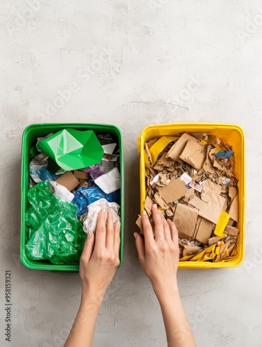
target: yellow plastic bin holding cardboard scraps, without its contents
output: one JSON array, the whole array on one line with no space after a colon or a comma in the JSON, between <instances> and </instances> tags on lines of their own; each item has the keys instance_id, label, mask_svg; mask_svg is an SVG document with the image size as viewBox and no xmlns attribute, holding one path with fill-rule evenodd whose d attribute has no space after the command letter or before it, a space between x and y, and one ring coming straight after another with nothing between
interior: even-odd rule
<instances>
[{"instance_id":1,"label":"yellow plastic bin holding cardboard scraps, without its contents","mask_svg":"<svg viewBox=\"0 0 262 347\"><path fill-rule=\"evenodd\" d=\"M233 146L236 158L235 175L238 178L239 222L240 234L236 245L237 255L228 262L179 262L181 269L211 269L238 266L244 260L245 251L245 135L239 126L234 124L217 123L177 123L154 124L142 130L138 137L138 151L140 152L140 211L144 210L146 198L145 187L145 142L154 137L176 135L178 133L212 133L223 142Z\"/></svg>"}]
</instances>

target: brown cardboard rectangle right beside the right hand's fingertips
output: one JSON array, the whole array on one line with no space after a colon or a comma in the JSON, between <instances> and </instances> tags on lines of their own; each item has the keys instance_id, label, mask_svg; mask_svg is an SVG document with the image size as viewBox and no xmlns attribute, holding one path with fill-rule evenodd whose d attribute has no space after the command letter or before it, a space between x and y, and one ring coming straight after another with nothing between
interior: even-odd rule
<instances>
[{"instance_id":1,"label":"brown cardboard rectangle right beside the right hand's fingertips","mask_svg":"<svg viewBox=\"0 0 262 347\"><path fill-rule=\"evenodd\" d=\"M174 214L174 224L177 226L179 237L182 239L193 239L197 223L197 211L189 208L183 203L178 203Z\"/></svg>"}]
</instances>

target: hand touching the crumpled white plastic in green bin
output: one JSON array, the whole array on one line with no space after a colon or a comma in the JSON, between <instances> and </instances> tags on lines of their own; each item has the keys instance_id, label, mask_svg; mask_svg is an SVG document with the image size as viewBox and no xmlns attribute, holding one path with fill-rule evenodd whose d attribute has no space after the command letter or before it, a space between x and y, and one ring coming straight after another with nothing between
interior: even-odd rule
<instances>
[{"instance_id":1,"label":"hand touching the crumpled white plastic in green bin","mask_svg":"<svg viewBox=\"0 0 262 347\"><path fill-rule=\"evenodd\" d=\"M88 232L80 259L82 297L98 295L99 299L103 299L106 288L120 264L119 249L120 222L114 225L112 211L108 210L106 218L106 211L103 209L97 219L96 234Z\"/></svg>"}]
</instances>

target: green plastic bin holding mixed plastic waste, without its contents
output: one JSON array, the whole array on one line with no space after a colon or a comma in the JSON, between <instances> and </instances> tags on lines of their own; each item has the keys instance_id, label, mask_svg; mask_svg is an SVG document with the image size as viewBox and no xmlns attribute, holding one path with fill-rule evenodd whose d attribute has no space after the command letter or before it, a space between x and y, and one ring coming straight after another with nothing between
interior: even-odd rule
<instances>
[{"instance_id":1,"label":"green plastic bin holding mixed plastic waste, without its contents","mask_svg":"<svg viewBox=\"0 0 262 347\"><path fill-rule=\"evenodd\" d=\"M28 269L51 270L51 271L79 271L79 265L55 265L49 260L31 260L26 256L26 225L24 214L28 207L27 192L29 184L29 151L35 144L37 137L43 137L49 133L56 133L65 128L74 128L76 130L94 130L95 133L110 133L118 139L120 146L120 174L121 174L121 209L120 209L120 266L123 259L124 246L124 150L122 144L121 131L112 124L85 124L85 123L57 123L57 124L31 124L24 130L22 136L22 169L21 169L21 238L20 238L20 258L22 264Z\"/></svg>"}]
</instances>

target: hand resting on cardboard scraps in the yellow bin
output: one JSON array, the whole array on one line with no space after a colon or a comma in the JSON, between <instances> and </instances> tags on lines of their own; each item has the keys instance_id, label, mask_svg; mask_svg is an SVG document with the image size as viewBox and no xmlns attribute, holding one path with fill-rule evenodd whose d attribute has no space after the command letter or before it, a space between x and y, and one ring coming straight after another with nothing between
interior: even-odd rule
<instances>
[{"instance_id":1,"label":"hand resting on cardboard scraps in the yellow bin","mask_svg":"<svg viewBox=\"0 0 262 347\"><path fill-rule=\"evenodd\" d=\"M163 291L177 290L178 232L174 223L166 220L156 205L153 205L152 213L155 238L145 211L142 212L145 240L137 232L134 237L142 269L152 282L156 296L159 296Z\"/></svg>"}]
</instances>

